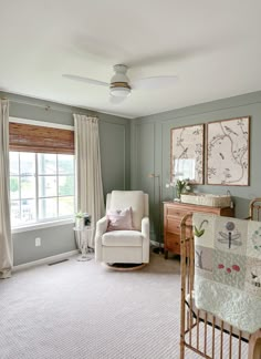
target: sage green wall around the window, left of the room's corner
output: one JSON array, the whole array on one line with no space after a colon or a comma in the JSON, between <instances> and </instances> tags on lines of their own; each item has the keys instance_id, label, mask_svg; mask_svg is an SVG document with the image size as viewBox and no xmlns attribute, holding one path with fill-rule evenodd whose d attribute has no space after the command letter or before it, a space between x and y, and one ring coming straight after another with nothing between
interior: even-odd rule
<instances>
[{"instance_id":1,"label":"sage green wall around the window, left of the room's corner","mask_svg":"<svg viewBox=\"0 0 261 359\"><path fill-rule=\"evenodd\" d=\"M104 194L129 188L129 120L58 103L0 92L10 100L10 116L73 125L73 113L97 114ZM14 265L75 249L73 225L13 234ZM41 237L41 247L35 238Z\"/></svg>"}]
</instances>

